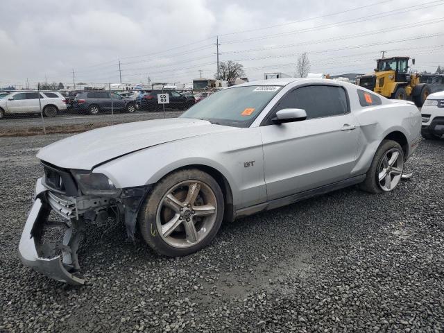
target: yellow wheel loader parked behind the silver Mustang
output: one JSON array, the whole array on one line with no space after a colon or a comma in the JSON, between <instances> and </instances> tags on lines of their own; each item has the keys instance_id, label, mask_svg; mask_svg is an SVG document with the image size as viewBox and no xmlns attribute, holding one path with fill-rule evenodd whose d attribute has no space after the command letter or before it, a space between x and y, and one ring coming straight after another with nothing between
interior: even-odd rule
<instances>
[{"instance_id":1,"label":"yellow wheel loader parked behind the silver Mustang","mask_svg":"<svg viewBox=\"0 0 444 333\"><path fill-rule=\"evenodd\" d=\"M430 94L430 87L420 83L420 74L409 73L409 57L391 57L377 60L372 74L357 78L357 85L377 92L388 99L408 99L422 106ZM415 59L412 59L415 65Z\"/></svg>"}]
</instances>

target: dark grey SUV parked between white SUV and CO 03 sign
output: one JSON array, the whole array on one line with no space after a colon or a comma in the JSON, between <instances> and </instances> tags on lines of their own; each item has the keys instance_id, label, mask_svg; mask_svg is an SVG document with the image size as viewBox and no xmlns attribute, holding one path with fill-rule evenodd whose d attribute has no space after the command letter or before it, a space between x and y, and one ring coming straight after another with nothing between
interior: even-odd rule
<instances>
[{"instance_id":1,"label":"dark grey SUV parked between white SUV and CO 03 sign","mask_svg":"<svg viewBox=\"0 0 444 333\"><path fill-rule=\"evenodd\" d=\"M80 112L99 114L113 110L135 112L135 101L125 99L115 92L80 92L74 99L74 107Z\"/></svg>"}]
</instances>

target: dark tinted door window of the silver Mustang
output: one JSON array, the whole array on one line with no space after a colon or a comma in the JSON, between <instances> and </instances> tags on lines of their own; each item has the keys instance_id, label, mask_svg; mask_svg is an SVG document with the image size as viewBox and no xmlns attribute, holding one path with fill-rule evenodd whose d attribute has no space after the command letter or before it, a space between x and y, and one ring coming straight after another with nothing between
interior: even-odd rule
<instances>
[{"instance_id":1,"label":"dark tinted door window of the silver Mustang","mask_svg":"<svg viewBox=\"0 0 444 333\"><path fill-rule=\"evenodd\" d=\"M347 95L342 87L310 85L289 92L278 103L278 110L296 108L307 112L307 119L332 117L348 112Z\"/></svg>"}]
</instances>

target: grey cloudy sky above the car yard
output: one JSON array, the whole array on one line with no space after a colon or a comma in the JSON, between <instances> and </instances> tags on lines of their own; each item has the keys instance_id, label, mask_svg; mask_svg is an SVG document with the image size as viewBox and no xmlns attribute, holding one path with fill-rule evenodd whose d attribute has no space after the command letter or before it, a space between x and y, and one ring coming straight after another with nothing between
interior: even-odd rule
<instances>
[{"instance_id":1,"label":"grey cloudy sky above the car yard","mask_svg":"<svg viewBox=\"0 0 444 333\"><path fill-rule=\"evenodd\" d=\"M371 5L371 6L369 6ZM250 80L294 75L306 51L311 72L367 72L379 51L444 65L444 1L2 0L0 86L37 81L191 82L237 60ZM359 8L361 6L361 8ZM364 6L364 7L363 7ZM341 12L341 13L339 13Z\"/></svg>"}]
</instances>

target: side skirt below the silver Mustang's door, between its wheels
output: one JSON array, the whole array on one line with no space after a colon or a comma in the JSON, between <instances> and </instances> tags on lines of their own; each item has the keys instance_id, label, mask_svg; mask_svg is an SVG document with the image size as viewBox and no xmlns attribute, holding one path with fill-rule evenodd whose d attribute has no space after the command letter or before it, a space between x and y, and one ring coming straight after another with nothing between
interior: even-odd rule
<instances>
[{"instance_id":1,"label":"side skirt below the silver Mustang's door, between its wheels","mask_svg":"<svg viewBox=\"0 0 444 333\"><path fill-rule=\"evenodd\" d=\"M274 210L275 208L290 205L291 203L297 203L300 200L305 200L313 196L321 196L331 191L336 191L337 189L343 189L344 187L349 187L352 185L359 184L366 179L366 175L356 176L341 180L340 182L334 182L330 185L325 185L321 187L316 187L316 189L309 189L307 191L302 191L300 193L292 194L291 196L284 196L284 198L279 198L266 203L259 203L259 205L254 205L246 208L237 210L235 213L236 218L241 216L248 216L255 214L257 212L263 212L265 210Z\"/></svg>"}]
</instances>

